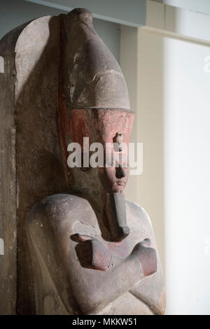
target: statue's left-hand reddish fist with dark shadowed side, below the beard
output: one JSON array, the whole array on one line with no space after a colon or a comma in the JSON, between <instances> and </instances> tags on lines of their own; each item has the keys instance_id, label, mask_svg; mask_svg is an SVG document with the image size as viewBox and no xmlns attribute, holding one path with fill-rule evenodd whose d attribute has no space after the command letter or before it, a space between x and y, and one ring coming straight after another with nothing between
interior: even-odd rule
<instances>
[{"instance_id":1,"label":"statue's left-hand reddish fist with dark shadowed side, below the beard","mask_svg":"<svg viewBox=\"0 0 210 329\"><path fill-rule=\"evenodd\" d=\"M71 235L73 241L78 242L76 253L80 264L90 269L107 271L111 266L111 253L104 244L89 235Z\"/></svg>"}]
</instances>

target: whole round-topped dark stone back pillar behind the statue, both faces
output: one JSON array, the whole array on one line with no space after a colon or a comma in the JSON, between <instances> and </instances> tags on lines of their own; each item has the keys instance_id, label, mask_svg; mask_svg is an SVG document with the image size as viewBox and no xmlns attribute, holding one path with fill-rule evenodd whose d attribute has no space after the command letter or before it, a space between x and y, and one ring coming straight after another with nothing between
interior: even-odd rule
<instances>
[{"instance_id":1,"label":"whole round-topped dark stone back pillar behind the statue, both faces","mask_svg":"<svg viewBox=\"0 0 210 329\"><path fill-rule=\"evenodd\" d=\"M0 56L0 314L34 314L27 219L68 186L57 129L59 17L10 31Z\"/></svg>"}]
</instances>

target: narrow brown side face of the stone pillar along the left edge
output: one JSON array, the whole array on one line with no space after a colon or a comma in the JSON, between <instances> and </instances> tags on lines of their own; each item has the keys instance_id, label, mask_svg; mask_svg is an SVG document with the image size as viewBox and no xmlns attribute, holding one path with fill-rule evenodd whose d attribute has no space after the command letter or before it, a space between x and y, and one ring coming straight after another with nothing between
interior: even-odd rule
<instances>
[{"instance_id":1,"label":"narrow brown side face of the stone pillar along the left edge","mask_svg":"<svg viewBox=\"0 0 210 329\"><path fill-rule=\"evenodd\" d=\"M0 314L16 312L16 126L15 126L15 41L24 26L0 42Z\"/></svg>"}]
</instances>

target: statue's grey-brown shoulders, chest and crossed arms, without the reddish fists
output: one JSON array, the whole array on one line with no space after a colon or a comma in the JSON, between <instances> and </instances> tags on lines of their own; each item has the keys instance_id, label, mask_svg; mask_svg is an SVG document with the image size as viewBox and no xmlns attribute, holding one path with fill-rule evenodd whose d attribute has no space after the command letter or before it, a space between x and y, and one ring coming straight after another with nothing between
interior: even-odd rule
<instances>
[{"instance_id":1,"label":"statue's grey-brown shoulders, chest and crossed arms, without the reddish fists","mask_svg":"<svg viewBox=\"0 0 210 329\"><path fill-rule=\"evenodd\" d=\"M146 238L151 239L151 247L157 250L150 220L141 207L131 202L127 202L126 212L130 235L116 245L102 239L97 217L83 198L53 195L36 204L32 210L29 236L36 246L38 257L34 266L40 272L45 264L55 284L48 290L61 297L62 307L69 314L164 314L165 292L160 260L158 258L158 271L145 276L133 251L139 240ZM93 227L96 235L89 231L92 239L100 241L112 253L112 267L105 272L81 265L78 261L78 240L69 239L76 233L82 233L81 228L78 230L78 222L85 228ZM41 276L41 283L43 286L36 286L39 292L37 309L39 314L45 314L42 300L45 286L48 286L47 274ZM55 300L53 313L57 312Z\"/></svg>"}]
</instances>

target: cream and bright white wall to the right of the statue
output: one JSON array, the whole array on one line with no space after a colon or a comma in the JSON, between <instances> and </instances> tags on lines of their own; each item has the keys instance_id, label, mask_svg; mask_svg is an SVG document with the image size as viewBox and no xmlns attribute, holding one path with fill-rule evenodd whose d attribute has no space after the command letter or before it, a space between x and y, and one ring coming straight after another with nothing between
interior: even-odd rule
<instances>
[{"instance_id":1,"label":"cream and bright white wall to the right of the statue","mask_svg":"<svg viewBox=\"0 0 210 329\"><path fill-rule=\"evenodd\" d=\"M138 38L136 141L144 143L144 169L130 189L153 223L167 313L210 314L210 48L144 28Z\"/></svg>"}]
</instances>

